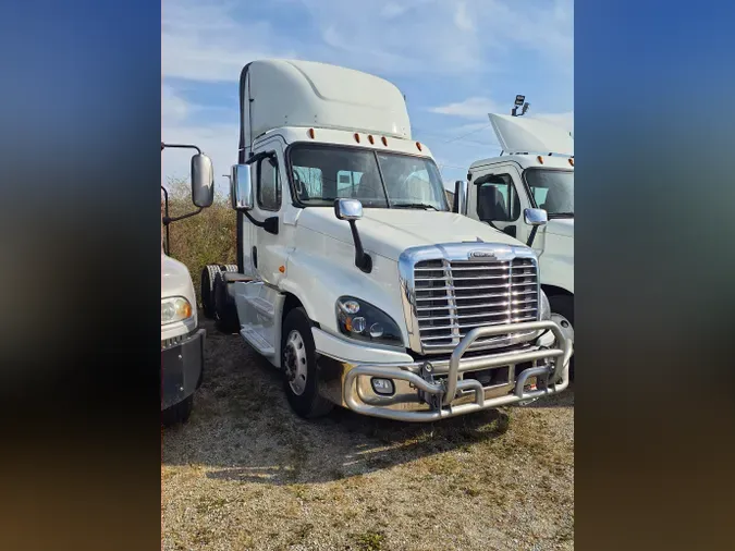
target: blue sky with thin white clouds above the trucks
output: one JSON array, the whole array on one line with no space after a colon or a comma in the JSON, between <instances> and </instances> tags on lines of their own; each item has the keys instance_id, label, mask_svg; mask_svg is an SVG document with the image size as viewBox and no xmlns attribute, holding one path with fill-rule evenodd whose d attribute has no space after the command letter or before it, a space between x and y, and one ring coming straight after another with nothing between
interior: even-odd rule
<instances>
[{"instance_id":1,"label":"blue sky with thin white clouds above the trucks","mask_svg":"<svg viewBox=\"0 0 735 551\"><path fill-rule=\"evenodd\" d=\"M236 161L237 79L255 59L321 61L376 74L406 95L413 135L446 187L500 152L487 113L574 124L572 0L164 0L162 137L193 142L221 176ZM163 179L188 156L163 156Z\"/></svg>"}]
</instances>

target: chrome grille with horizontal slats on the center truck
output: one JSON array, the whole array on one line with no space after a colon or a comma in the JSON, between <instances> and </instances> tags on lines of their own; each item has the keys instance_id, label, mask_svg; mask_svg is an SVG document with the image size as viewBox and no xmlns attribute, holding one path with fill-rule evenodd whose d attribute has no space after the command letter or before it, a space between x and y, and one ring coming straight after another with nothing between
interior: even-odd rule
<instances>
[{"instance_id":1,"label":"chrome grille with horizontal slats on the center truck","mask_svg":"<svg viewBox=\"0 0 735 551\"><path fill-rule=\"evenodd\" d=\"M441 352L456 346L476 327L538 319L536 260L420 260L414 266L415 315L421 346ZM512 333L478 340L471 348L505 346Z\"/></svg>"}]
</instances>

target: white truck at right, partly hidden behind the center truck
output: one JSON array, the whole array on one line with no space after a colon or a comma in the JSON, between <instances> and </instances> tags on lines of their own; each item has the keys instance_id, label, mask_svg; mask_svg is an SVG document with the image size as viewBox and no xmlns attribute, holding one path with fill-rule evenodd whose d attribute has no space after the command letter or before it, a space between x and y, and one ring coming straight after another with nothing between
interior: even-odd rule
<instances>
[{"instance_id":1,"label":"white truck at right, partly hidden behind the center truck","mask_svg":"<svg viewBox=\"0 0 735 551\"><path fill-rule=\"evenodd\" d=\"M455 183L453 210L534 247L551 319L574 342L574 138L541 119L489 117L501 155L471 163ZM529 208L544 210L548 223L528 224Z\"/></svg>"}]
</instances>

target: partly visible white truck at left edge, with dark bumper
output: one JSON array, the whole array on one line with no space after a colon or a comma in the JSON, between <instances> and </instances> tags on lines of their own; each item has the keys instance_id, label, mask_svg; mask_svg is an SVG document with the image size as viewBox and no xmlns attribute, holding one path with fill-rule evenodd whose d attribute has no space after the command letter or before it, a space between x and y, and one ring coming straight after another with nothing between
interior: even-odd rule
<instances>
[{"instance_id":1,"label":"partly visible white truck at left edge, with dark bumper","mask_svg":"<svg viewBox=\"0 0 735 551\"><path fill-rule=\"evenodd\" d=\"M204 376L206 332L199 328L196 296L186 266L169 256L169 224L192 217L211 206L215 198L215 174L209 157L196 146L161 143L166 148L195 149L192 157L193 212L170 216L169 196L164 197L162 222L166 238L161 240L161 420L163 425L185 423L194 407L194 392Z\"/></svg>"}]
</instances>

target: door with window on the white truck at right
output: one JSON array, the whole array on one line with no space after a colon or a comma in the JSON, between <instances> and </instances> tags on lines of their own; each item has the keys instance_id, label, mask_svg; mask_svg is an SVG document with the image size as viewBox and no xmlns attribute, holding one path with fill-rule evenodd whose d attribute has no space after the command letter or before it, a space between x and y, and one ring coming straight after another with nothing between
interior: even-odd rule
<instances>
[{"instance_id":1,"label":"door with window on the white truck at right","mask_svg":"<svg viewBox=\"0 0 735 551\"><path fill-rule=\"evenodd\" d=\"M467 216L486 222L520 242L528 238L523 210L529 201L515 164L504 163L473 174Z\"/></svg>"}]
</instances>

